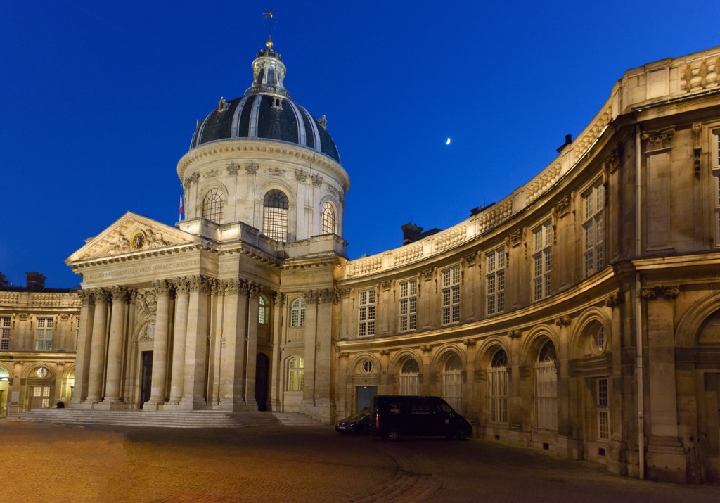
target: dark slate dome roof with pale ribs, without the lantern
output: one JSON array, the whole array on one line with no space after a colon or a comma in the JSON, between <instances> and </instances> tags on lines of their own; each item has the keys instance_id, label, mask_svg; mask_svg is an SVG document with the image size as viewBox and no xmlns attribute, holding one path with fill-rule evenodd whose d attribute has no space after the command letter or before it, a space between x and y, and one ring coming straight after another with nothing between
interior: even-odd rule
<instances>
[{"instance_id":1,"label":"dark slate dome roof with pale ribs, without the lantern","mask_svg":"<svg viewBox=\"0 0 720 503\"><path fill-rule=\"evenodd\" d=\"M199 123L190 148L244 138L294 143L340 162L338 148L319 120L299 104L271 94L251 94L230 102L221 99L219 106Z\"/></svg>"}]
</instances>

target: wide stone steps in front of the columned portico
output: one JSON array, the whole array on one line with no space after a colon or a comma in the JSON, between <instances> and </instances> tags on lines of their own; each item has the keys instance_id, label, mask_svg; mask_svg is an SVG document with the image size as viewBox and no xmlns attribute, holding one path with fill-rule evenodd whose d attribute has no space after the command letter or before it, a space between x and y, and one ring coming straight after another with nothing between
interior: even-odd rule
<instances>
[{"instance_id":1,"label":"wide stone steps in front of the columned portico","mask_svg":"<svg viewBox=\"0 0 720 503\"><path fill-rule=\"evenodd\" d=\"M117 424L163 428L242 428L279 424L269 412L35 409L15 417L64 424Z\"/></svg>"}]
</instances>

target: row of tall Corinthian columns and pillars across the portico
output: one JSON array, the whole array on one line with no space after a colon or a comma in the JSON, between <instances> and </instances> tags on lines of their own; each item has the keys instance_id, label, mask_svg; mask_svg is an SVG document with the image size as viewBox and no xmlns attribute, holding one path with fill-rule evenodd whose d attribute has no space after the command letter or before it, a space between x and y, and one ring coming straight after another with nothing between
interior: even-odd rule
<instances>
[{"instance_id":1,"label":"row of tall Corinthian columns and pillars across the portico","mask_svg":"<svg viewBox=\"0 0 720 503\"><path fill-rule=\"evenodd\" d=\"M156 280L152 288L81 290L71 406L257 410L261 290L247 280L197 275ZM154 331L143 344L153 353L152 376L140 404L138 337L149 324Z\"/></svg>"}]
</instances>

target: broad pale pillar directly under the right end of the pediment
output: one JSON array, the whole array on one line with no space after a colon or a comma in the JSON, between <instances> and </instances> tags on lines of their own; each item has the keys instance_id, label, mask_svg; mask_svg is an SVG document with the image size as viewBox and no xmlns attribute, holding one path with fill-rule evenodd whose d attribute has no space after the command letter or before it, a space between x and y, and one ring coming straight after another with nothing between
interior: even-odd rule
<instances>
[{"instance_id":1,"label":"broad pale pillar directly under the right end of the pediment","mask_svg":"<svg viewBox=\"0 0 720 503\"><path fill-rule=\"evenodd\" d=\"M189 278L190 295L185 337L185 372L181 405L202 408L205 400L205 355L207 349L207 291L204 276Z\"/></svg>"}]
</instances>

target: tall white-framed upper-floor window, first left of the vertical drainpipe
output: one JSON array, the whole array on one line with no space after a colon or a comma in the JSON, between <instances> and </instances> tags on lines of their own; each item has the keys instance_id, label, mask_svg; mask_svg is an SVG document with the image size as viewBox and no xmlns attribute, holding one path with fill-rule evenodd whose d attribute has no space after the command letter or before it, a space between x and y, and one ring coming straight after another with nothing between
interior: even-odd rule
<instances>
[{"instance_id":1,"label":"tall white-framed upper-floor window, first left of the vertical drainpipe","mask_svg":"<svg viewBox=\"0 0 720 503\"><path fill-rule=\"evenodd\" d=\"M585 277L603 268L605 187L598 180L582 194L582 237Z\"/></svg>"}]
</instances>

